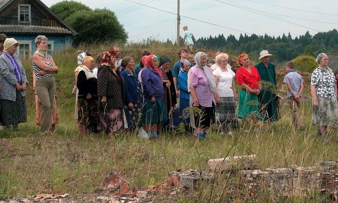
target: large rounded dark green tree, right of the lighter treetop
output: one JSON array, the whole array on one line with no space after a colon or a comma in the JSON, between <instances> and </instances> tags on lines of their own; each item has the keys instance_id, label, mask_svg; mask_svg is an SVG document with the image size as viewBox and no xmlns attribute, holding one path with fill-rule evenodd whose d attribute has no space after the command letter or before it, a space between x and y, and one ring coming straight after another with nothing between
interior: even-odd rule
<instances>
[{"instance_id":1,"label":"large rounded dark green tree, right of the lighter treetop","mask_svg":"<svg viewBox=\"0 0 338 203\"><path fill-rule=\"evenodd\" d=\"M128 35L119 23L114 12L109 9L95 9L93 11L77 11L65 21L72 26L79 35L73 37L73 45L81 43L109 43L114 41L126 42Z\"/></svg>"}]
</instances>

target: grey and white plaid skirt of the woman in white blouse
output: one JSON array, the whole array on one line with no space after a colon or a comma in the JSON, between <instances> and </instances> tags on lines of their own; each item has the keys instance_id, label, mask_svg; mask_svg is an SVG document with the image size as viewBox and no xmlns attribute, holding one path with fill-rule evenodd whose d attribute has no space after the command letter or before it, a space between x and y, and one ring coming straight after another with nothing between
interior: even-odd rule
<instances>
[{"instance_id":1,"label":"grey and white plaid skirt of the woman in white blouse","mask_svg":"<svg viewBox=\"0 0 338 203\"><path fill-rule=\"evenodd\" d=\"M221 103L215 107L216 123L223 128L237 128L236 102L234 97L221 97Z\"/></svg>"}]
</instances>

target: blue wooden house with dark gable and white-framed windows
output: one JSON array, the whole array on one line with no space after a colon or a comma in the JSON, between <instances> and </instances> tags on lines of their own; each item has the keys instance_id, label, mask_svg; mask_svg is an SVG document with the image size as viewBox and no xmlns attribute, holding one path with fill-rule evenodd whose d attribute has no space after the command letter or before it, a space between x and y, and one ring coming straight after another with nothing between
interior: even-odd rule
<instances>
[{"instance_id":1,"label":"blue wooden house with dark gable and white-framed windows","mask_svg":"<svg viewBox=\"0 0 338 203\"><path fill-rule=\"evenodd\" d=\"M38 35L48 38L48 51L52 53L71 46L72 36L78 34L40 0L0 0L0 33L20 43L20 57L35 52Z\"/></svg>"}]
</instances>

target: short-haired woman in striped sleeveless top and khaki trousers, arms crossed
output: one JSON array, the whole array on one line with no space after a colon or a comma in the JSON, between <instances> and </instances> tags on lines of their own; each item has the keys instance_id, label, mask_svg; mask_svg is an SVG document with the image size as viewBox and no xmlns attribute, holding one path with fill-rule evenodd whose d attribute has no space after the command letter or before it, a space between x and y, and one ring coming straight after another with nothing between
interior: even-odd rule
<instances>
[{"instance_id":1,"label":"short-haired woman in striped sleeveless top and khaki trousers, arms crossed","mask_svg":"<svg viewBox=\"0 0 338 203\"><path fill-rule=\"evenodd\" d=\"M39 35L35 38L37 50L32 56L32 66L35 74L35 91L42 104L41 133L51 132L50 110L56 94L54 74L59 68L55 65L53 57L47 54L47 38Z\"/></svg>"}]
</instances>

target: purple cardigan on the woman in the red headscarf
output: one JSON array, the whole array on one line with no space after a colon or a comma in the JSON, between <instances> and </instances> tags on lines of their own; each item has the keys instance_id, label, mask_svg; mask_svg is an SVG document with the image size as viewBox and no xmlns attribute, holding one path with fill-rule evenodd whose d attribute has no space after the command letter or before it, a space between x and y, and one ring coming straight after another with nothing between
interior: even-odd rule
<instances>
[{"instance_id":1,"label":"purple cardigan on the woman in the red headscarf","mask_svg":"<svg viewBox=\"0 0 338 203\"><path fill-rule=\"evenodd\" d=\"M163 100L163 83L162 78L159 76L159 74L149 67L145 67L142 70L141 78L143 97L145 99L151 99L151 97L154 96L155 99Z\"/></svg>"}]
</instances>

